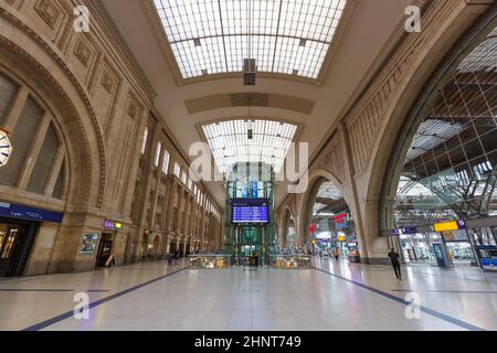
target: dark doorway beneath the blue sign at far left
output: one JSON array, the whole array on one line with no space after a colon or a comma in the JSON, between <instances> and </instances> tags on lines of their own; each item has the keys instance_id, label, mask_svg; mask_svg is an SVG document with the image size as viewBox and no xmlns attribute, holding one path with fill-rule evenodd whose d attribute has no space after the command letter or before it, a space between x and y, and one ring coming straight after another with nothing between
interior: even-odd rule
<instances>
[{"instance_id":1,"label":"dark doorway beneath the blue sign at far left","mask_svg":"<svg viewBox=\"0 0 497 353\"><path fill-rule=\"evenodd\" d=\"M38 226L35 222L0 217L0 277L23 275Z\"/></svg>"}]
</instances>

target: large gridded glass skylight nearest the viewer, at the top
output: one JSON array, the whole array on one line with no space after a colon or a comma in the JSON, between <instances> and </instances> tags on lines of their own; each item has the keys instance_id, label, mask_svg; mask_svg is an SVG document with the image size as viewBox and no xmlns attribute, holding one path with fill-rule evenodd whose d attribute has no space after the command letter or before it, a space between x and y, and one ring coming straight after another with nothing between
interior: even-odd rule
<instances>
[{"instance_id":1,"label":"large gridded glass skylight nearest the viewer, at the top","mask_svg":"<svg viewBox=\"0 0 497 353\"><path fill-rule=\"evenodd\" d=\"M316 79L347 0L154 2L183 78L241 72L252 57L260 72Z\"/></svg>"}]
</instances>

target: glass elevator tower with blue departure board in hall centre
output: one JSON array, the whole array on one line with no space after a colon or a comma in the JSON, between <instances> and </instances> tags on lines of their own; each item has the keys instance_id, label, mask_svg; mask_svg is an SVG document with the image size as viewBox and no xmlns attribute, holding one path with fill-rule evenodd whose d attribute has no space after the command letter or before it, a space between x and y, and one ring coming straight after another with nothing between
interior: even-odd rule
<instances>
[{"instance_id":1,"label":"glass elevator tower with blue departure board in hall centre","mask_svg":"<svg viewBox=\"0 0 497 353\"><path fill-rule=\"evenodd\" d=\"M258 254L268 265L276 253L273 167L258 162L232 164L226 174L224 252L233 265L248 265Z\"/></svg>"}]
</instances>

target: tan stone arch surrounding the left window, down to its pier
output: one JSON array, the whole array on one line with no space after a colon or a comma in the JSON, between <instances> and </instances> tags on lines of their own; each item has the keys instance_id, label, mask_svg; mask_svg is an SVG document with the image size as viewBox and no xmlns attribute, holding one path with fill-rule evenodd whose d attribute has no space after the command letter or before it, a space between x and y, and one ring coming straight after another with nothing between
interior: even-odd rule
<instances>
[{"instance_id":1,"label":"tan stone arch surrounding the left window, down to its pier","mask_svg":"<svg viewBox=\"0 0 497 353\"><path fill-rule=\"evenodd\" d=\"M102 206L105 186L105 150L96 116L85 88L50 45L21 22L2 23L6 31L0 35L0 68L15 78L22 89L27 89L50 114L65 154L64 200L61 203L64 218L52 239L51 254L56 256L33 253L27 272L92 269L96 254L92 259L77 254L82 235L98 232L95 216L98 217L96 213ZM17 43L23 43L23 46ZM38 266L40 261L35 259L40 257L46 265Z\"/></svg>"}]
</instances>

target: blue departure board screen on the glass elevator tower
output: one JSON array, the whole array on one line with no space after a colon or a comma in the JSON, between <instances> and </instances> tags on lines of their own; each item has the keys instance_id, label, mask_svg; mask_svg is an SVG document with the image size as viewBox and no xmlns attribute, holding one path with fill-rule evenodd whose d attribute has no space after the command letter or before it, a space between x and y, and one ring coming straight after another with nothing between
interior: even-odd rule
<instances>
[{"instance_id":1,"label":"blue departure board screen on the glass elevator tower","mask_svg":"<svg viewBox=\"0 0 497 353\"><path fill-rule=\"evenodd\" d=\"M266 199L235 199L231 211L232 223L269 222L269 202Z\"/></svg>"}]
</instances>

